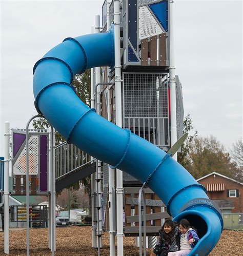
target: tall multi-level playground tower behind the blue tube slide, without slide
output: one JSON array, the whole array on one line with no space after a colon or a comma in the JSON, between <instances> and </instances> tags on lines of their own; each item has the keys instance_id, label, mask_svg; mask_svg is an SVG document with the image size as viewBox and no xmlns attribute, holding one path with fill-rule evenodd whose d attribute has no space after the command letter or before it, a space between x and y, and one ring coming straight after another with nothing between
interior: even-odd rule
<instances>
[{"instance_id":1,"label":"tall multi-level playground tower behind the blue tube slide, without slide","mask_svg":"<svg viewBox=\"0 0 243 256\"><path fill-rule=\"evenodd\" d=\"M165 0L105 1L102 7L100 32L107 32L111 26L116 26L116 4L119 5L120 21L118 35L120 62L118 65L120 65L122 81L121 91L117 92L117 85L115 85L116 65L110 68L92 69L94 95L95 90L97 91L97 96L93 101L97 101L98 113L105 119L124 129L130 129L134 134L168 151L173 145L172 141L175 142L182 135L184 117L182 90L178 76L175 76L174 81L176 82L176 101L172 102L175 105L176 113L171 113L169 2ZM95 28L97 32L97 22ZM97 76L97 72L100 73L100 76L99 74ZM95 88L98 83L102 83L102 85ZM175 108L173 107L173 110ZM119 111L118 115L117 111ZM172 138L171 135L171 115L173 114L176 115L175 138ZM110 231L110 240L114 240L112 234L116 233L116 228L114 225L109 227L109 222L115 223L116 219L114 218L115 209L111 205L115 205L114 191L116 188L114 184L119 178L117 175L116 179L114 178L114 170L106 163L102 163L99 172L100 169L103 170L103 219L105 220L105 229ZM132 175L123 172L122 188L126 188L127 193L125 198L129 197L128 195L131 194L129 192L134 190L134 186L140 187L141 185ZM133 193L132 196L134 196ZM135 193L136 196L138 196L138 192ZM155 203L155 199L159 199L153 191L146 196L153 203ZM123 200L123 202L125 201ZM123 205L125 235L137 236L138 227L133 228L131 223L126 222L126 218L131 214L138 214L137 205L130 204L128 206L126 202ZM118 209L116 210L118 211ZM147 206L146 211L147 213L160 212L161 206L159 209ZM158 234L161 219L165 216L166 213L161 215L160 219L158 217L157 220L154 220L152 224L148 223L148 235ZM96 215L94 219L96 219ZM123 221L123 216L120 217L121 220Z\"/></svg>"}]
</instances>

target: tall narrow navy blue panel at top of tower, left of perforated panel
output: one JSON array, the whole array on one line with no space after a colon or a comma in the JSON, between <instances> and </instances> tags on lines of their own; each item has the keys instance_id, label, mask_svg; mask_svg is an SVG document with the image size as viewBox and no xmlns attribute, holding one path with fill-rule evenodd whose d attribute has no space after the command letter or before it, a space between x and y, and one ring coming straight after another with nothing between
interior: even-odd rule
<instances>
[{"instance_id":1,"label":"tall narrow navy blue panel at top of tower, left of perforated panel","mask_svg":"<svg viewBox=\"0 0 243 256\"><path fill-rule=\"evenodd\" d=\"M128 39L137 50L137 1L130 0L128 5Z\"/></svg>"}]
</instances>

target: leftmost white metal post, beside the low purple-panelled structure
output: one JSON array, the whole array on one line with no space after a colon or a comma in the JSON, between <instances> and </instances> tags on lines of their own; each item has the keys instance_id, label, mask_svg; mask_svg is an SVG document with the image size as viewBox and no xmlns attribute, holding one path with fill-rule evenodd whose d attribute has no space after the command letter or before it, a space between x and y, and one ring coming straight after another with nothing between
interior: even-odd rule
<instances>
[{"instance_id":1,"label":"leftmost white metal post, beside the low purple-panelled structure","mask_svg":"<svg viewBox=\"0 0 243 256\"><path fill-rule=\"evenodd\" d=\"M9 122L4 125L4 253L9 254Z\"/></svg>"}]
</instances>

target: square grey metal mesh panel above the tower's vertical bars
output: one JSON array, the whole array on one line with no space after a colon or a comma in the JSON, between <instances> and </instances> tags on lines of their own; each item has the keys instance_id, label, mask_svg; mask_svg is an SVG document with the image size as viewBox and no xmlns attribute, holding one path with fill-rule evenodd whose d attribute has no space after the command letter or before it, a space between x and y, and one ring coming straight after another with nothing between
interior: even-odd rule
<instances>
[{"instance_id":1,"label":"square grey metal mesh panel above the tower's vertical bars","mask_svg":"<svg viewBox=\"0 0 243 256\"><path fill-rule=\"evenodd\" d=\"M167 117L164 74L124 73L124 117Z\"/></svg>"}]
</instances>

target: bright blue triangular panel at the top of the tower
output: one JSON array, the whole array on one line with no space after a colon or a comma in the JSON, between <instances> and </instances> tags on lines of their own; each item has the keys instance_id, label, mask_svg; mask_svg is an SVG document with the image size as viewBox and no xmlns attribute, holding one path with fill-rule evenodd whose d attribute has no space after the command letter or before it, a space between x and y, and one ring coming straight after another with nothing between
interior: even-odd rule
<instances>
[{"instance_id":1,"label":"bright blue triangular panel at the top of the tower","mask_svg":"<svg viewBox=\"0 0 243 256\"><path fill-rule=\"evenodd\" d=\"M164 0L163 2L155 3L149 5L153 14L158 19L159 23L163 26L165 31L168 31L168 1Z\"/></svg>"}]
</instances>

